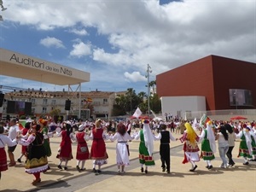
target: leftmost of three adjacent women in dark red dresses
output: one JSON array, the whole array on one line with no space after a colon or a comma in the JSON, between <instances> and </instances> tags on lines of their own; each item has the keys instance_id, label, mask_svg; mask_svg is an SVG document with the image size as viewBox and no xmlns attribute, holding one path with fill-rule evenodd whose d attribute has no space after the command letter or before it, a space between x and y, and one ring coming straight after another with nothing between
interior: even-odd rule
<instances>
[{"instance_id":1,"label":"leftmost of three adjacent women in dark red dresses","mask_svg":"<svg viewBox=\"0 0 256 192\"><path fill-rule=\"evenodd\" d=\"M62 162L65 162L64 169L67 170L67 163L69 160L73 159L72 155L72 140L73 140L73 128L71 122L67 121L63 124L62 131L56 133L57 137L61 137L61 144L56 156L57 159L60 159L58 165L59 169L62 169Z\"/></svg>"}]
</instances>

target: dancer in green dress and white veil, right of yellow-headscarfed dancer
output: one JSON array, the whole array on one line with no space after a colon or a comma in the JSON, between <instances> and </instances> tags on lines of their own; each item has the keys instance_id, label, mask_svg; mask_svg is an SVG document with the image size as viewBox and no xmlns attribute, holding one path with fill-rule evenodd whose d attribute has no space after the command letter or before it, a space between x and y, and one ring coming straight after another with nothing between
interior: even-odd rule
<instances>
[{"instance_id":1,"label":"dancer in green dress and white veil, right of yellow-headscarfed dancer","mask_svg":"<svg viewBox=\"0 0 256 192\"><path fill-rule=\"evenodd\" d=\"M201 131L200 142L201 142L201 157L207 161L207 169L212 169L211 160L215 159L214 154L216 153L216 142L215 135L212 130L212 121L204 114L201 118L200 125L207 126L206 129Z\"/></svg>"}]
</instances>

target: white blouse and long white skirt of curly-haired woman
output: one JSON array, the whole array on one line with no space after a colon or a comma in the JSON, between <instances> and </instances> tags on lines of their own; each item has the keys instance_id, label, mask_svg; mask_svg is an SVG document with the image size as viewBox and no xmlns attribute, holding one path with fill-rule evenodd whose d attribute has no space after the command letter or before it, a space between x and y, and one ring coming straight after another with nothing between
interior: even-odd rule
<instances>
[{"instance_id":1,"label":"white blouse and long white skirt of curly-haired woman","mask_svg":"<svg viewBox=\"0 0 256 192\"><path fill-rule=\"evenodd\" d=\"M131 137L127 132L125 132L124 136L119 134L119 132L116 132L113 136L110 137L111 141L117 140L116 163L118 166L129 166L130 165L128 148L126 145L128 145L127 141L132 140L132 139L133 139L133 137Z\"/></svg>"}]
</instances>

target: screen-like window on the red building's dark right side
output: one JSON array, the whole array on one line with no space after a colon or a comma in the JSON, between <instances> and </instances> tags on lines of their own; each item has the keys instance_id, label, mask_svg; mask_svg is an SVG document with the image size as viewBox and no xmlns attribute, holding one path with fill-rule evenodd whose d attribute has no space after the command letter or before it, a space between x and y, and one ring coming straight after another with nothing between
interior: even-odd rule
<instances>
[{"instance_id":1,"label":"screen-like window on the red building's dark right side","mask_svg":"<svg viewBox=\"0 0 256 192\"><path fill-rule=\"evenodd\" d=\"M230 89L230 106L253 107L251 90Z\"/></svg>"}]
</instances>

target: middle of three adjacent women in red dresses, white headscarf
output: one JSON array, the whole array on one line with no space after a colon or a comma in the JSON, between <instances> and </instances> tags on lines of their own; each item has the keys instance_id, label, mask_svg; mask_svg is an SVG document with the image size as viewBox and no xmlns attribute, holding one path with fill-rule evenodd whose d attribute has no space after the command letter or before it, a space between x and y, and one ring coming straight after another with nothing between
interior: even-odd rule
<instances>
[{"instance_id":1,"label":"middle of three adjacent women in red dresses, white headscarf","mask_svg":"<svg viewBox=\"0 0 256 192\"><path fill-rule=\"evenodd\" d=\"M89 137L86 135L84 132L85 125L79 125L79 132L76 134L76 141L78 143L77 147L77 154L76 154L76 159L77 159L77 170L84 171L84 164L85 160L89 160L89 149L87 146L86 141L89 140ZM81 163L81 168L80 168L80 163Z\"/></svg>"}]
</instances>

